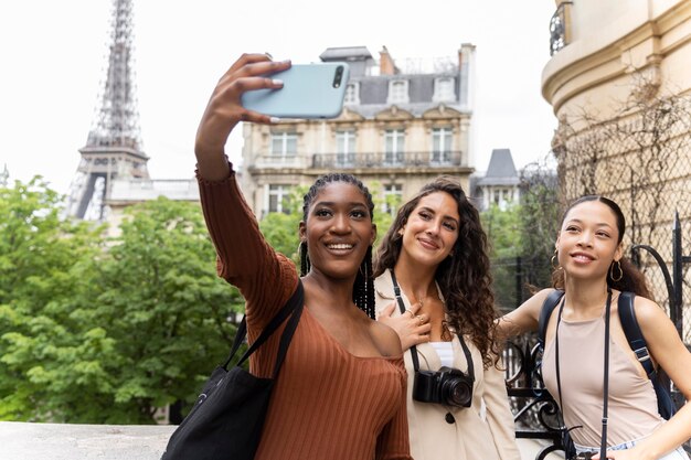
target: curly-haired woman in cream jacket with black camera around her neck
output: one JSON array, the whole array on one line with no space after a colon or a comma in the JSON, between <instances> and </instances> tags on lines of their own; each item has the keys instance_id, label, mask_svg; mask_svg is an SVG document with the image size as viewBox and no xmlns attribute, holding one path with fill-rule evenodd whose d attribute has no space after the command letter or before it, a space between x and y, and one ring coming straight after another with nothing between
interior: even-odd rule
<instances>
[{"instance_id":1,"label":"curly-haired woman in cream jacket with black camera around her neck","mask_svg":"<svg viewBox=\"0 0 691 460\"><path fill-rule=\"evenodd\" d=\"M413 458L520 459L498 368L487 237L458 183L439 178L401 207L374 275L379 320L406 350Z\"/></svg>"}]
</instances>

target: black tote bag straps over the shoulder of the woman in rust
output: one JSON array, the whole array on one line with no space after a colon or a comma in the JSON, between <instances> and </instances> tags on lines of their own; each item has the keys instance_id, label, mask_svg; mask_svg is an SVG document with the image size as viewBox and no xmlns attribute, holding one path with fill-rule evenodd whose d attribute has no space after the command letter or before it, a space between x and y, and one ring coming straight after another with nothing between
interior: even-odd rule
<instances>
[{"instance_id":1,"label":"black tote bag straps over the shoulder of the woman in rust","mask_svg":"<svg viewBox=\"0 0 691 460\"><path fill-rule=\"evenodd\" d=\"M252 353L254 353L259 346L264 344L272 336L272 334L278 329L280 324L290 315L290 321L286 324L286 329L280 338L280 345L278 347L278 354L276 355L276 365L274 367L274 377L278 375L278 371L283 364L283 360L288 351L288 345L290 344L290 340L293 339L293 334L297 329L298 321L300 315L302 314L302 306L305 304L305 289L302 288L302 281L298 279L297 287L295 292L286 304L272 318L272 320L266 324L266 327L262 330L259 336L252 343L252 345L247 349L245 354L240 359L237 365L242 365ZM233 341L233 346L231 347L231 354L227 360L223 364L223 368L227 371L227 366L230 365L233 356L237 353L240 345L244 342L245 336L247 335L247 319L246 315L243 317L243 320L237 325L237 331L235 333L235 340Z\"/></svg>"}]
</instances>

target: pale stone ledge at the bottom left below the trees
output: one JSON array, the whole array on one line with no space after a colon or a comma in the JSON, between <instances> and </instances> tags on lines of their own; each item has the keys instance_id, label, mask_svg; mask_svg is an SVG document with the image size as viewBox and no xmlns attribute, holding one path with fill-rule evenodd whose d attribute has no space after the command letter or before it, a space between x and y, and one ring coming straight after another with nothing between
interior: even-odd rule
<instances>
[{"instance_id":1,"label":"pale stone ledge at the bottom left below the trees","mask_svg":"<svg viewBox=\"0 0 691 460\"><path fill-rule=\"evenodd\" d=\"M7 460L159 460L174 426L0 421Z\"/></svg>"}]
</instances>

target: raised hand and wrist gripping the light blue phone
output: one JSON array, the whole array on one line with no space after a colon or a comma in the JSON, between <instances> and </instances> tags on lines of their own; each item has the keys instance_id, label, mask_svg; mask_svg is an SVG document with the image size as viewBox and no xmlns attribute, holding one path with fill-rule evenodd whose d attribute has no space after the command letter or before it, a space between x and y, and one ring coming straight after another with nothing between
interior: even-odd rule
<instances>
[{"instance_id":1,"label":"raised hand and wrist gripping the light blue phone","mask_svg":"<svg viewBox=\"0 0 691 460\"><path fill-rule=\"evenodd\" d=\"M221 77L196 130L194 153L202 178L214 181L227 176L223 149L238 121L272 122L269 116L245 109L241 104L242 94L281 88L283 82L267 75L289 67L289 61L273 62L266 54L243 54Z\"/></svg>"}]
</instances>

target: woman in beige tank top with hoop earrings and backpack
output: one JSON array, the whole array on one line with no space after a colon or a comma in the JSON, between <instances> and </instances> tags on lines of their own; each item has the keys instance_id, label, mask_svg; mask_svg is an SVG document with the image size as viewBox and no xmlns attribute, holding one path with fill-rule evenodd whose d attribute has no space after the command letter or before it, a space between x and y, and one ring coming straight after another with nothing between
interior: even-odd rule
<instances>
[{"instance_id":1,"label":"woman in beige tank top with hoop earrings and backpack","mask_svg":"<svg viewBox=\"0 0 691 460\"><path fill-rule=\"evenodd\" d=\"M604 196L583 196L566 210L553 257L553 286L564 296L546 323L542 375L578 452L600 450L606 396L608 458L688 459L680 446L691 437L691 406L687 404L669 421L660 416L653 385L619 321L621 292L636 293L635 318L650 357L687 400L691 397L691 354L665 311L649 300L642 274L624 257L624 232L621 210ZM553 291L544 289L504 315L502 333L536 330L542 306Z\"/></svg>"}]
</instances>

